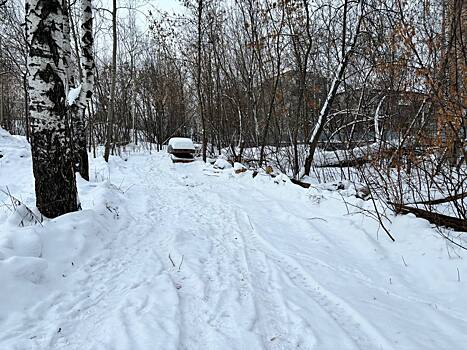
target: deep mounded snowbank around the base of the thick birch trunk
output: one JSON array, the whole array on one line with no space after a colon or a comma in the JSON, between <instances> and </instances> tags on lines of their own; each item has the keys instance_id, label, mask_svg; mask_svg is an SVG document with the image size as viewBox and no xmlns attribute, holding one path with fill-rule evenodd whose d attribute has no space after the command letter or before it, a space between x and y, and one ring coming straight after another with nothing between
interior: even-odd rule
<instances>
[{"instance_id":1,"label":"deep mounded snowbank around the base of the thick birch trunk","mask_svg":"<svg viewBox=\"0 0 467 350\"><path fill-rule=\"evenodd\" d=\"M108 181L80 180L83 210L44 220L34 207L29 144L0 129L0 151L2 329L21 322L22 310L66 289L71 275L82 274L87 260L112 240L124 197Z\"/></svg>"}]
</instances>

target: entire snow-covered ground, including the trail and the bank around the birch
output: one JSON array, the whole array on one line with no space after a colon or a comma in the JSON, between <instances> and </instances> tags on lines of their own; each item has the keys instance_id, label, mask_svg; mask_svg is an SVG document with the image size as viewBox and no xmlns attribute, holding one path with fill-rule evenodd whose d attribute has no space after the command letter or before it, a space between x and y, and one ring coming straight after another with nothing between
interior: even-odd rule
<instances>
[{"instance_id":1,"label":"entire snow-covered ground, including the trail and the bank around the birch","mask_svg":"<svg viewBox=\"0 0 467 350\"><path fill-rule=\"evenodd\" d=\"M0 153L33 208L27 143L0 130ZM0 195L2 350L466 348L465 253L424 220L393 243L350 190L162 152L78 184L83 210L42 225Z\"/></svg>"}]
</instances>

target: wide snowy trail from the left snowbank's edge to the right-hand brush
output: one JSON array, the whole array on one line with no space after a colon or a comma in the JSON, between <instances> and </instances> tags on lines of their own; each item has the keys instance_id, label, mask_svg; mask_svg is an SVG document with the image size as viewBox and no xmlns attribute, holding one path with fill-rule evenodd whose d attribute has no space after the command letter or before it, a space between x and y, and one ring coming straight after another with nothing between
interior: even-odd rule
<instances>
[{"instance_id":1,"label":"wide snowy trail from the left snowbank's edge to the right-hand brush","mask_svg":"<svg viewBox=\"0 0 467 350\"><path fill-rule=\"evenodd\" d=\"M433 293L424 285L433 277L401 261L404 254L409 267L423 266L433 259L423 253L445 254L442 245L421 248L413 237L391 245L378 239L376 223L347 215L341 198L307 193L280 177L172 164L163 153L113 158L110 170L99 164L94 179L110 177L121 192L107 205L111 239L67 276L64 288L5 329L2 349L467 343L466 300L456 284L445 286L450 296L430 285L439 289ZM81 186L92 191L92 184Z\"/></svg>"}]
</instances>

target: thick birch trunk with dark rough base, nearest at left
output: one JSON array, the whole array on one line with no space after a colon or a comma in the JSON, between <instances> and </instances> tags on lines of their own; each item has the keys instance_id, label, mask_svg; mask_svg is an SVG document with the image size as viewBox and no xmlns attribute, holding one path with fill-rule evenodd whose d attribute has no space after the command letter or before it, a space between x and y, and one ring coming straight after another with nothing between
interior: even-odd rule
<instances>
[{"instance_id":1,"label":"thick birch trunk with dark rough base, nearest at left","mask_svg":"<svg viewBox=\"0 0 467 350\"><path fill-rule=\"evenodd\" d=\"M31 150L36 206L54 218L78 209L63 64L63 2L27 0Z\"/></svg>"}]
</instances>

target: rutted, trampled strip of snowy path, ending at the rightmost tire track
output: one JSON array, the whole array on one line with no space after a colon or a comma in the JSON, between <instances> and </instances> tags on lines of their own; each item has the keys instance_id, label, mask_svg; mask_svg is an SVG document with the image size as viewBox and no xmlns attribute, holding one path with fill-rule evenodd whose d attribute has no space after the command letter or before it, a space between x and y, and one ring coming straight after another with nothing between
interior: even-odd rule
<instances>
[{"instance_id":1,"label":"rutted, trampled strip of snowy path, ending at the rightmost tire track","mask_svg":"<svg viewBox=\"0 0 467 350\"><path fill-rule=\"evenodd\" d=\"M74 289L41 305L45 319L63 331L37 328L33 349L314 349L320 334L308 317L323 313L349 338L346 349L391 348L355 310L265 241L243 208L211 191L217 178L201 181L196 167L176 169L166 161L151 158L125 169L141 181L128 194L135 204L131 217L104 254L82 268ZM183 225L174 223L177 216ZM186 255L180 272L168 253ZM303 300L289 299L286 288Z\"/></svg>"}]
</instances>

